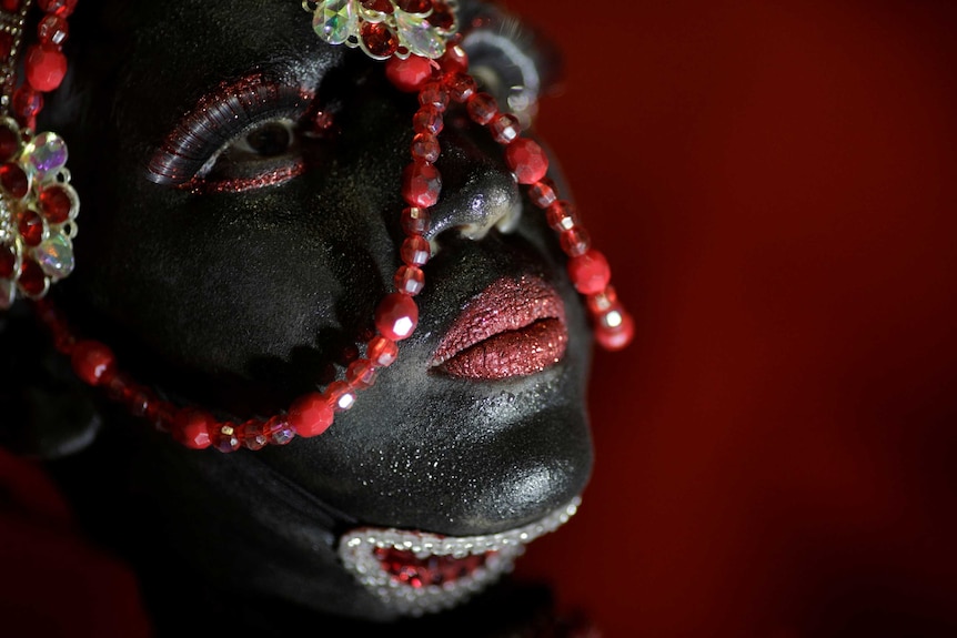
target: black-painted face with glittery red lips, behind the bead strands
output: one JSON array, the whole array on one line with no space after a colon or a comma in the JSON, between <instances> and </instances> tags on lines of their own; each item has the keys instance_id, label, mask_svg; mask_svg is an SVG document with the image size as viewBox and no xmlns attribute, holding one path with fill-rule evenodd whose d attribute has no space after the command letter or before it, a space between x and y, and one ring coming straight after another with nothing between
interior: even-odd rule
<instances>
[{"instance_id":1,"label":"black-painted face with glittery red lips, behind the bead strands","mask_svg":"<svg viewBox=\"0 0 957 638\"><path fill-rule=\"evenodd\" d=\"M417 103L298 2L157 4L108 11L110 37L85 45L82 22L71 34L83 124L77 102L48 110L83 210L59 294L171 401L270 416L342 376L393 290ZM464 2L463 23L487 10ZM502 43L530 40L483 24L494 37L465 47L491 91L516 73ZM127 431L143 520L184 569L389 618L343 567L344 534L506 533L583 490L591 336L561 249L486 130L453 109L439 139L419 326L354 407L255 453Z\"/></svg>"}]
</instances>

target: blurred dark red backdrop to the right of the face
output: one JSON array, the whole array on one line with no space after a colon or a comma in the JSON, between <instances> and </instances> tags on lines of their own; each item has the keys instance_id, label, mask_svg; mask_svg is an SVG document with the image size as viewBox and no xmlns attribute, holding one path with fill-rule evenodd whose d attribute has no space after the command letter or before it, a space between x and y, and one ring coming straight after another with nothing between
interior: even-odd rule
<instances>
[{"instance_id":1,"label":"blurred dark red backdrop to the right of the face","mask_svg":"<svg viewBox=\"0 0 957 638\"><path fill-rule=\"evenodd\" d=\"M957 3L511 7L637 321L520 574L607 638L957 636Z\"/></svg>"}]
</instances>

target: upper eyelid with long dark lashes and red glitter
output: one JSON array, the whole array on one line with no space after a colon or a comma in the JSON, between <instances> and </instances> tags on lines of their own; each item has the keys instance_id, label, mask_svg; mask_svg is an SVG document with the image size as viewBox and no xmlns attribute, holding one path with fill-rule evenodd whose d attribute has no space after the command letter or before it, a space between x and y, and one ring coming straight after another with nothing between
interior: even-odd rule
<instances>
[{"instance_id":1,"label":"upper eyelid with long dark lashes and red glitter","mask_svg":"<svg viewBox=\"0 0 957 638\"><path fill-rule=\"evenodd\" d=\"M177 123L147 166L147 179L164 186L190 183L233 139L269 120L300 120L314 95L261 75L224 82Z\"/></svg>"}]
</instances>

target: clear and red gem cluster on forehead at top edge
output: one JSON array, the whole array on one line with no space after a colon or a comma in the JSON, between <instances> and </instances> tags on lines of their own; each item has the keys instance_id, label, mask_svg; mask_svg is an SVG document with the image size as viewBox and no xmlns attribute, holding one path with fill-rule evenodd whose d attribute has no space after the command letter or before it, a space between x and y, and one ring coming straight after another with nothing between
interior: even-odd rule
<instances>
[{"instance_id":1,"label":"clear and red gem cluster on forehead at top edge","mask_svg":"<svg viewBox=\"0 0 957 638\"><path fill-rule=\"evenodd\" d=\"M440 58L459 30L455 0L321 0L303 7L323 41L357 47L375 60Z\"/></svg>"}]
</instances>

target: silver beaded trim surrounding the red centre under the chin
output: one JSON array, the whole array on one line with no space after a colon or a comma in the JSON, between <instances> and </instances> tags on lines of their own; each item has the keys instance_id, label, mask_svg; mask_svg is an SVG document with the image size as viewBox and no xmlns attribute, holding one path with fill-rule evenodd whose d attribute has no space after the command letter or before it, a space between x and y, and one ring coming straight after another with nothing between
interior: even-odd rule
<instances>
[{"instance_id":1,"label":"silver beaded trim surrounding the red centre under the chin","mask_svg":"<svg viewBox=\"0 0 957 638\"><path fill-rule=\"evenodd\" d=\"M515 559L525 551L525 545L567 523L580 505L581 499L576 497L537 523L482 536L437 536L423 531L363 527L340 539L339 555L362 585L399 614L433 614L465 601L511 571ZM376 548L411 551L423 559L431 556L465 558L490 551L495 554L487 556L485 566L469 576L442 586L415 588L382 569L374 554Z\"/></svg>"}]
</instances>

